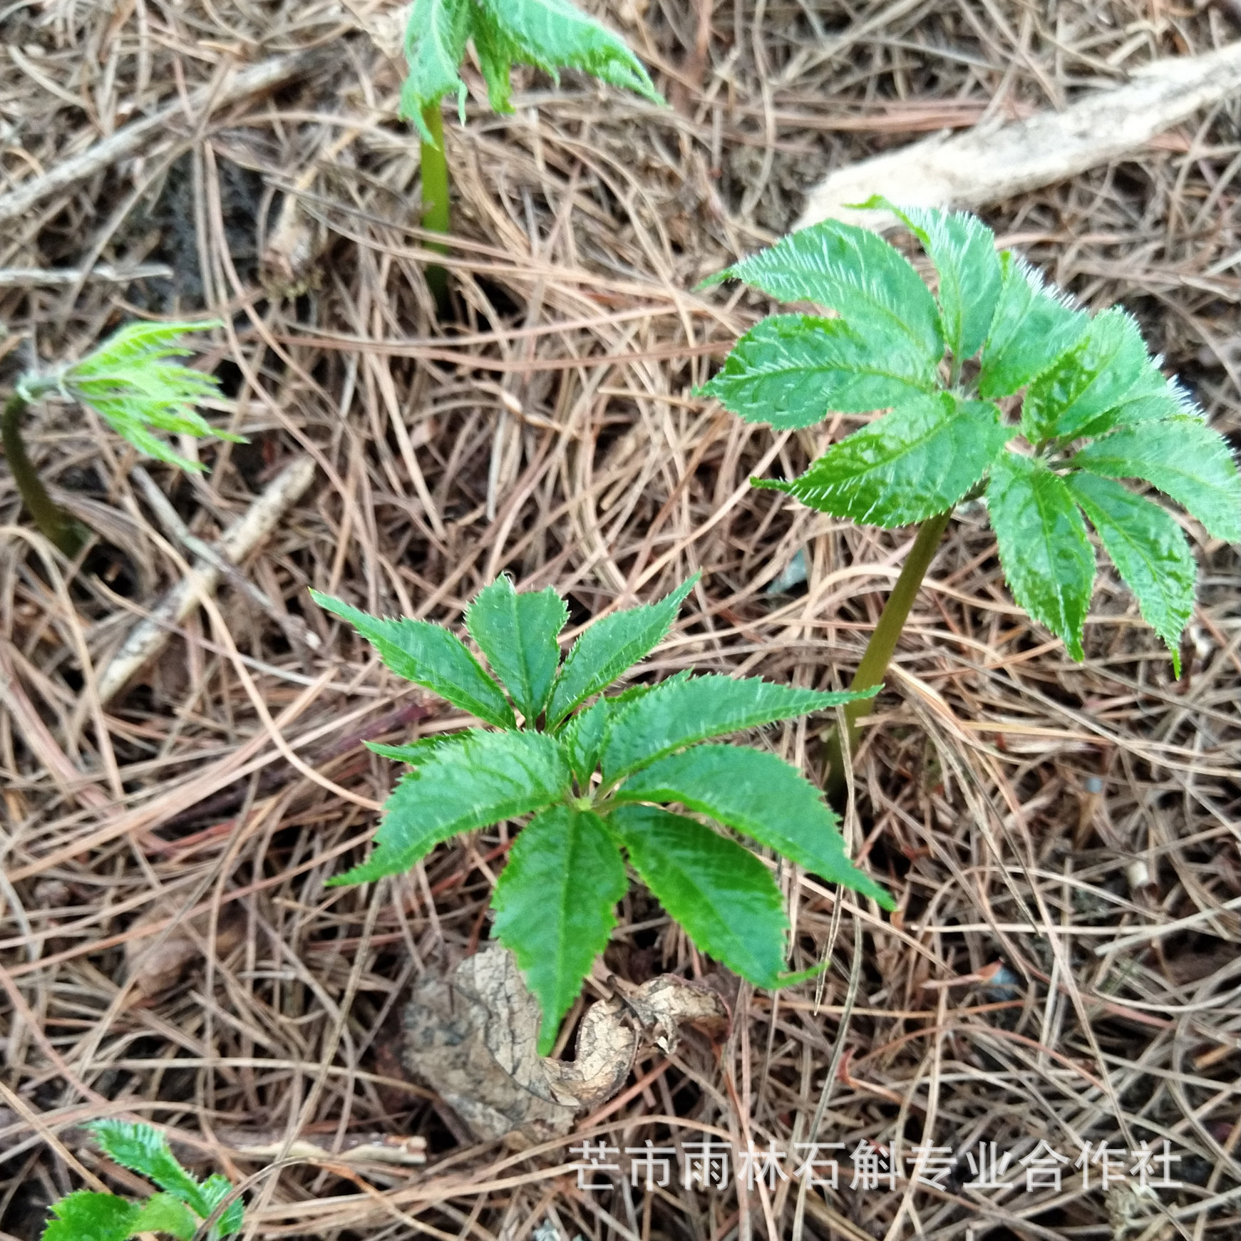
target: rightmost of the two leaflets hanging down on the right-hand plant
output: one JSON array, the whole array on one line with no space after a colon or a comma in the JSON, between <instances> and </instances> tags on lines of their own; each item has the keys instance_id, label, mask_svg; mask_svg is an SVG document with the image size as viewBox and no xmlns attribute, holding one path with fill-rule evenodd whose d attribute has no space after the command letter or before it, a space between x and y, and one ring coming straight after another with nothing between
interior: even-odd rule
<instances>
[{"instance_id":1,"label":"rightmost of the two leaflets hanging down on the right-hand plant","mask_svg":"<svg viewBox=\"0 0 1241 1241\"><path fill-rule=\"evenodd\" d=\"M1109 478L1078 470L1065 479L1103 550L1137 596L1147 624L1168 644L1180 676L1180 635L1194 614L1198 565L1172 514Z\"/></svg>"}]
</instances>

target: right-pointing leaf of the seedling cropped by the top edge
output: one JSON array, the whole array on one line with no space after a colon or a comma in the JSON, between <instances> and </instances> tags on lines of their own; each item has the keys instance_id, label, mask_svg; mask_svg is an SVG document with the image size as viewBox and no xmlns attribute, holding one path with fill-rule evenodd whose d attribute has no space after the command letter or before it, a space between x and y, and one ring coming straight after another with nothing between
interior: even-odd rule
<instances>
[{"instance_id":1,"label":"right-pointing leaf of the seedling cropped by the top edge","mask_svg":"<svg viewBox=\"0 0 1241 1241\"><path fill-rule=\"evenodd\" d=\"M663 96L625 41L567 0L480 2L494 29L511 47L513 60L534 65L552 77L562 68L583 69L601 82L663 104Z\"/></svg>"}]
</instances>

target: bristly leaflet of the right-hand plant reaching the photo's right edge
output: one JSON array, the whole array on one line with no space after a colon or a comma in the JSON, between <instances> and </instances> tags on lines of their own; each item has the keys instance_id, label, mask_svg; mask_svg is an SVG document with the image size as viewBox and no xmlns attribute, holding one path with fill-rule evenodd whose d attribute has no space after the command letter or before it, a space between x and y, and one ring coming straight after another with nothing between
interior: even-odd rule
<instances>
[{"instance_id":1,"label":"bristly leaflet of the right-hand plant reaching the photo's right edge","mask_svg":"<svg viewBox=\"0 0 1241 1241\"><path fill-rule=\"evenodd\" d=\"M1140 478L1188 509L1216 539L1241 541L1241 479L1232 450L1198 418L1122 428L1087 444L1070 464L1103 478Z\"/></svg>"}]
</instances>

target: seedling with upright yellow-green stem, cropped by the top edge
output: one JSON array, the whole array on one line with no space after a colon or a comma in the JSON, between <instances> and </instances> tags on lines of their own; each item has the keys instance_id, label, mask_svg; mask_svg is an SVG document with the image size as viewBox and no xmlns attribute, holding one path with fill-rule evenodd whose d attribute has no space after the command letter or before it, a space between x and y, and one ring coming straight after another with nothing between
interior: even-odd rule
<instances>
[{"instance_id":1,"label":"seedling with upright yellow-green stem, cropped by the top edge","mask_svg":"<svg viewBox=\"0 0 1241 1241\"><path fill-rule=\"evenodd\" d=\"M553 77L561 68L585 69L654 103L664 102L624 40L568 0L414 0L405 34L410 72L400 114L422 137L423 225L432 232L447 233L450 226L441 99L457 96L464 124L460 65L470 41L489 102L500 113L513 112L509 73L515 63L532 65ZM444 269L432 268L428 282L443 309Z\"/></svg>"}]
</instances>

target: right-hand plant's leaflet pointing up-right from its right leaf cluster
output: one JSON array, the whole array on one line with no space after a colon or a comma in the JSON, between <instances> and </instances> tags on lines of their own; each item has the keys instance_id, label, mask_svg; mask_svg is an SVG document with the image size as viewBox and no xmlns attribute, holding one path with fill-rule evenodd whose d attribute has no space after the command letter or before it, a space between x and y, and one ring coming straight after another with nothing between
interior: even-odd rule
<instances>
[{"instance_id":1,"label":"right-hand plant's leaflet pointing up-right from its right leaf cluster","mask_svg":"<svg viewBox=\"0 0 1241 1241\"><path fill-rule=\"evenodd\" d=\"M1121 405L1143 380L1147 361L1132 315L1119 307L1096 315L1082 339L1030 383L1021 406L1025 438L1075 439Z\"/></svg>"}]
</instances>

